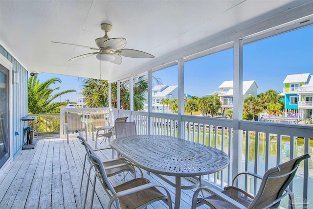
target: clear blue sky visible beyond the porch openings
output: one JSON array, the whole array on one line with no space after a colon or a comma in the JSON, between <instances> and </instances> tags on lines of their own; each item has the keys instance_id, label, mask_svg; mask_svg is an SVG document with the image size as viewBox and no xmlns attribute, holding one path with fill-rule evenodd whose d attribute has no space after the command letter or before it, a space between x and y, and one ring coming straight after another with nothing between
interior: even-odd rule
<instances>
[{"instance_id":1,"label":"clear blue sky visible beyond the porch openings","mask_svg":"<svg viewBox=\"0 0 313 209\"><path fill-rule=\"evenodd\" d=\"M244 81L255 80L257 93L273 89L283 91L283 81L288 74L313 75L313 25L274 36L244 46ZM163 84L177 85L177 66L154 73ZM51 77L62 80L60 91L80 91L78 77L41 73L45 81ZM185 63L185 93L204 96L218 90L226 80L233 79L233 50L228 49ZM76 93L68 93L61 100L76 101Z\"/></svg>"}]
</instances>

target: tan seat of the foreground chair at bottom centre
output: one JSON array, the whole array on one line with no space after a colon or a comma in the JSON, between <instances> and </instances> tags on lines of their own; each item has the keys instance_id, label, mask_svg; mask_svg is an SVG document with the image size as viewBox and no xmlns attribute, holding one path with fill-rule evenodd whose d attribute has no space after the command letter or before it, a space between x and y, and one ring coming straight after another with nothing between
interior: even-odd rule
<instances>
[{"instance_id":1,"label":"tan seat of the foreground chair at bottom centre","mask_svg":"<svg viewBox=\"0 0 313 209\"><path fill-rule=\"evenodd\" d=\"M150 181L145 178L137 178L132 181L126 182L122 185L114 187L116 192L124 191L126 189L134 188L136 186L141 186L149 184ZM138 191L123 197L118 198L121 209L135 209L152 200L167 199L167 197L161 193L156 187L151 187L142 191Z\"/></svg>"}]
</instances>

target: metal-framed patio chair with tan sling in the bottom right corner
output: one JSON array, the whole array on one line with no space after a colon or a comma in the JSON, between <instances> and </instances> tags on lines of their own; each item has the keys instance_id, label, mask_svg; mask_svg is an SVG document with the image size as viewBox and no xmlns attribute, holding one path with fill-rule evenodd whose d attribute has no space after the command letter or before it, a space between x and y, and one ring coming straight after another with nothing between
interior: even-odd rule
<instances>
[{"instance_id":1,"label":"metal-framed patio chair with tan sling in the bottom right corner","mask_svg":"<svg viewBox=\"0 0 313 209\"><path fill-rule=\"evenodd\" d=\"M299 163L307 158L310 158L309 154L270 168L263 177L250 172L240 173L234 178L232 186L224 187L222 192L212 187L201 187L193 195L192 209L196 209L203 204L208 205L211 209L275 209L287 195L290 201L289 206L294 209L293 194L288 186L296 174ZM255 197L235 186L238 177L241 175L251 175L262 179ZM198 197L199 192L203 189L212 193L212 195L205 198Z\"/></svg>"}]
</instances>

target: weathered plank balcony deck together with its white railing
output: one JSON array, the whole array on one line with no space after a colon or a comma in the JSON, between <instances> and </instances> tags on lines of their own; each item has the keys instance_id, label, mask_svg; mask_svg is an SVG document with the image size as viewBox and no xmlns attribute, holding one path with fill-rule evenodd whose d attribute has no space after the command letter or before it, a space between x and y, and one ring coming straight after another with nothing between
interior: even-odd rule
<instances>
[{"instance_id":1,"label":"weathered plank balcony deck together with its white railing","mask_svg":"<svg viewBox=\"0 0 313 209\"><path fill-rule=\"evenodd\" d=\"M179 116L178 114L147 113L114 108L61 109L60 114L54 115L54 120L59 119L60 121L60 136L41 137L34 150L23 150L14 163L10 163L2 169L1 208L14 208L17 204L22 208L28 208L28 206L40 206L39 208L82 207L79 185L84 149L75 138L77 134L72 135L73 138L69 140L69 143L66 142L63 128L64 114L71 112L82 116L82 119L89 125L89 143L94 146L89 118L89 113L93 111L102 111L108 114L109 121L116 117L128 116L129 121L136 122L137 134L139 135L154 134L180 137L223 150L231 159L229 166L216 174L202 176L203 185L214 186L219 189L231 184L235 167L239 167L240 171L250 171L263 175L269 168L296 156L305 153L313 156L313 129L312 126L307 125L239 121L238 132L233 128L233 120L225 118ZM52 116L49 115L49 117ZM40 121L47 119L43 115L39 116L37 120L39 121L37 124L41 126ZM49 129L50 132L51 129ZM38 128L38 130L41 129ZM41 130L41 133L44 133L44 130ZM232 149L236 133L239 134L241 141L238 153ZM106 143L102 143L101 146L108 146ZM109 154L110 152L103 153L102 157L110 159ZM241 156L239 161L234 160L234 156L237 155ZM172 197L175 196L172 186L167 185L153 174L149 176L148 173L145 173L144 175L152 182L165 184L172 191ZM169 177L169 179L171 178ZM121 177L116 177L114 183L121 183ZM243 179L241 184L246 191L255 194L260 182L254 181L254 179ZM300 165L290 188L295 197L313 200L313 191L308 189L308 185L313 185L312 159L306 160ZM62 189L63 192L60 192ZM84 194L84 188L82 191ZM193 191L183 190L181 208L190 208ZM96 186L96 192L97 208L106 208L105 204L108 197L104 195L100 186ZM90 200L90 196L88 200ZM280 206L287 208L287 199L283 199ZM165 208L164 205L156 205L155 207Z\"/></svg>"}]
</instances>

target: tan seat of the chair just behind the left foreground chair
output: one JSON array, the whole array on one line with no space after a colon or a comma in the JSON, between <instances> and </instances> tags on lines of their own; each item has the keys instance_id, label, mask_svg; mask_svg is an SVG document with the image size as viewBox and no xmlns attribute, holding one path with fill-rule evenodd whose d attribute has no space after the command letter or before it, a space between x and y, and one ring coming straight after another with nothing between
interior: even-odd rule
<instances>
[{"instance_id":1,"label":"tan seat of the chair just behind the left foreground chair","mask_svg":"<svg viewBox=\"0 0 313 209\"><path fill-rule=\"evenodd\" d=\"M125 159L113 159L113 160L109 160L109 161L105 161L103 162L103 167L106 170L107 176L114 176L116 174L122 173L122 172L127 172L127 171L134 171L134 168L131 165L122 165L122 166L118 166L118 167L114 167L114 168L109 168L106 169L106 167L109 166L114 166L114 165L119 165L119 164L123 164L123 163L129 163L128 161L126 161Z\"/></svg>"}]
</instances>

